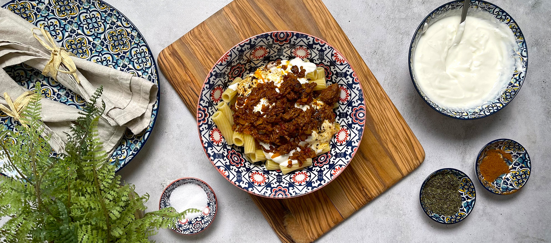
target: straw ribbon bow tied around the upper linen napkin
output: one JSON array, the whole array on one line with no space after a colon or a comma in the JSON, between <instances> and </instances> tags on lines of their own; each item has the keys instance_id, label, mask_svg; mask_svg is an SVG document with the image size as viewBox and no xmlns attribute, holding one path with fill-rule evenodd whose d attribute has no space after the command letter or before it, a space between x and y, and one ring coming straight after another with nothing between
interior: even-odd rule
<instances>
[{"instance_id":1,"label":"straw ribbon bow tied around the upper linen napkin","mask_svg":"<svg viewBox=\"0 0 551 243\"><path fill-rule=\"evenodd\" d=\"M42 36L46 38L46 41L48 43L39 38L34 30L40 30ZM50 60L44 67L44 70L42 70L42 75L48 75L48 73L51 72L51 76L57 81L57 72L60 71L63 72L63 74L73 75L77 83L80 83L80 80L78 80L77 76L77 66L74 64L73 60L70 57L75 55L71 52L67 52L67 50L63 47L57 47L56 42L53 41L53 38L50 35L50 32L44 30L44 26L40 28L33 28L33 35L40 42L40 44L42 44L42 46L52 52L50 55ZM63 64L68 71L59 69L61 64Z\"/></svg>"}]
</instances>

